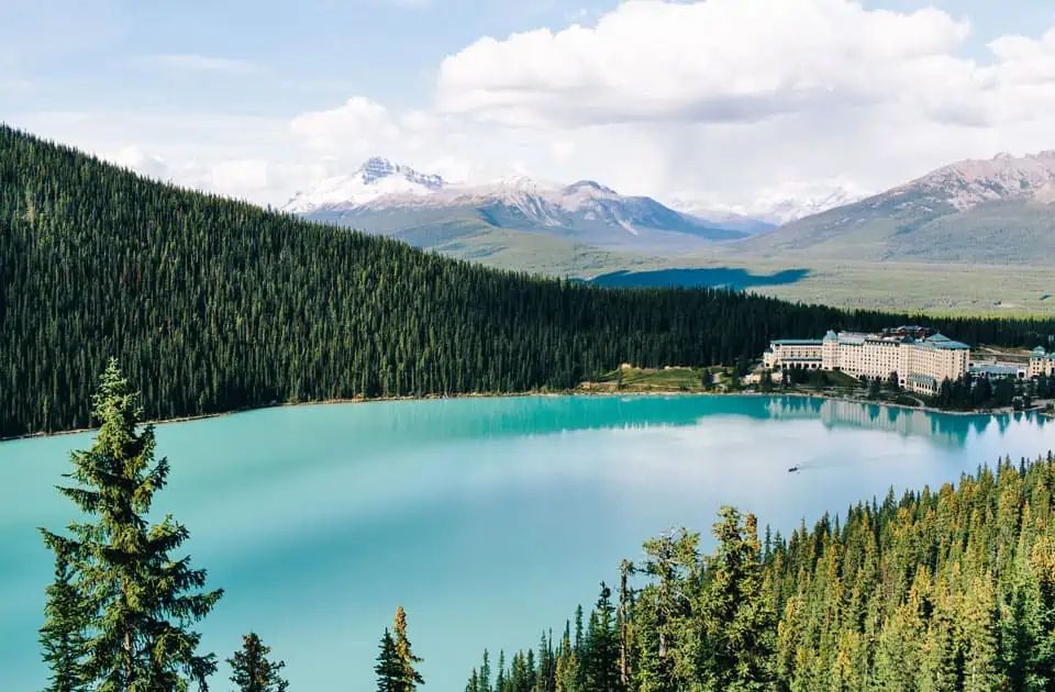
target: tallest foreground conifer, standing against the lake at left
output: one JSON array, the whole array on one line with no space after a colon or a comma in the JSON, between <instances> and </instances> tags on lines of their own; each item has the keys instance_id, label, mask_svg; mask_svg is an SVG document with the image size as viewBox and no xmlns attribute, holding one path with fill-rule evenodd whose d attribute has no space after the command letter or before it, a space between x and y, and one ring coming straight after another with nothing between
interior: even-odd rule
<instances>
[{"instance_id":1,"label":"tallest foreground conifer, standing against the lake at left","mask_svg":"<svg viewBox=\"0 0 1055 692\"><path fill-rule=\"evenodd\" d=\"M42 529L45 544L68 556L69 583L87 617L84 681L98 692L182 692L191 683L206 690L216 660L198 652L200 635L190 625L222 591L200 592L206 571L171 556L189 537L182 525L145 517L169 467L155 461L154 427L140 429L138 393L116 361L92 404L95 444L71 455L67 478L76 485L59 490L93 521L71 524L70 536Z\"/></svg>"}]
</instances>

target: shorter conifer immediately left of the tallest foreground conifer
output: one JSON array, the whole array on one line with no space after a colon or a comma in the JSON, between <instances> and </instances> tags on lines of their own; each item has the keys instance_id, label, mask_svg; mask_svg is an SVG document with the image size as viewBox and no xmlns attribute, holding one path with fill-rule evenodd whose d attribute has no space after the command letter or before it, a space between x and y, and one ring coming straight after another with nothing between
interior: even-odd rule
<instances>
[{"instance_id":1,"label":"shorter conifer immediately left of the tallest foreground conifer","mask_svg":"<svg viewBox=\"0 0 1055 692\"><path fill-rule=\"evenodd\" d=\"M87 690L81 670L86 655L84 632L86 613L80 594L70 583L69 559L55 555L55 581L47 588L41 648L51 670L45 692L81 692Z\"/></svg>"}]
</instances>

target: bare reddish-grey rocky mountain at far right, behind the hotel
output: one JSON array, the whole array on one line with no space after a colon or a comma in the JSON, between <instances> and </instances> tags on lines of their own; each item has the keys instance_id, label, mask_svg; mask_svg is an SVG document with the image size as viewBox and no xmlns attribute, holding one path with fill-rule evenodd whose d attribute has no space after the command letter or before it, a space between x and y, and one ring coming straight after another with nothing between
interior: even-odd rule
<instances>
[{"instance_id":1,"label":"bare reddish-grey rocky mountain at far right, behind the hotel","mask_svg":"<svg viewBox=\"0 0 1055 692\"><path fill-rule=\"evenodd\" d=\"M743 244L864 260L1052 264L1055 152L965 160Z\"/></svg>"}]
</instances>

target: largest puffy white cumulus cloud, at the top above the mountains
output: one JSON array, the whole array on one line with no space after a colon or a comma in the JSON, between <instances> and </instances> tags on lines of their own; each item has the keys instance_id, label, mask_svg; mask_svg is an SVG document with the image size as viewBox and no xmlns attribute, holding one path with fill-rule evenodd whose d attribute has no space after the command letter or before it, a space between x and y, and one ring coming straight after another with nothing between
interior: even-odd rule
<instances>
[{"instance_id":1,"label":"largest puffy white cumulus cloud, at the top above the mountains","mask_svg":"<svg viewBox=\"0 0 1055 692\"><path fill-rule=\"evenodd\" d=\"M437 104L518 125L752 122L969 80L951 55L968 32L847 0L632 0L595 26L477 41L443 60Z\"/></svg>"}]
</instances>

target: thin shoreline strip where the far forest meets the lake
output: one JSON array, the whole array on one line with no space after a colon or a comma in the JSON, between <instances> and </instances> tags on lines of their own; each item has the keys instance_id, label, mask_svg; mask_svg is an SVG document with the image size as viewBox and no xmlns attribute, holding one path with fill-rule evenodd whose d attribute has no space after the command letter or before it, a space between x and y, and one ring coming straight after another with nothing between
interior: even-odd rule
<instances>
[{"instance_id":1,"label":"thin shoreline strip where the far forest meets the lake","mask_svg":"<svg viewBox=\"0 0 1055 692\"><path fill-rule=\"evenodd\" d=\"M333 404L366 404L366 403L379 403L379 402L393 402L393 401L440 401L447 399L513 399L518 397L800 397L803 399L824 399L830 401L844 401L847 403L857 403L857 404L871 404L875 406L887 406L893 409L903 409L906 411L924 411L926 413L940 413L943 415L1010 415L1013 413L1035 413L1037 415L1055 420L1055 413L1047 413L1041 409L1030 409L1028 411L1017 412L1014 409L1007 406L1003 409L990 409L990 410L979 410L979 411L949 411L945 409L936 409L929 405L920 406L910 406L908 404L900 404L890 401L870 401L868 399L858 399L855 397L846 397L839 394L830 394L825 392L804 392L804 391L771 391L771 392L759 392L759 391L738 391L738 392L707 392L707 391L686 391L680 389L669 389L669 390L640 390L640 391L626 391L626 390L611 390L611 391L596 391L596 390L584 390L584 389L570 389L570 390L559 390L559 391L525 391L525 392L469 392L469 393L459 393L459 394L425 394L420 397L375 397L371 399L366 399L363 397L357 397L354 399L324 399L316 401L287 401L287 402L273 402L267 404L260 404L256 406L243 406L241 409L232 409L231 411L219 411L216 413L200 413L196 415L182 415L174 418L157 418L151 421L143 421L142 425L168 425L175 423L190 423L193 421L206 421L209 418L219 418L229 415L237 415L240 413L249 413L252 411L262 411L265 409L282 409L286 406L326 406ZM55 431L52 433L26 433L25 435L11 435L8 437L0 437L0 443L5 442L15 442L19 439L36 439L44 437L58 437L62 435L79 435L81 433L90 433L95 427L78 427L68 431Z\"/></svg>"}]
</instances>

